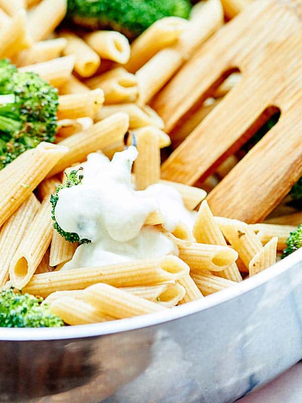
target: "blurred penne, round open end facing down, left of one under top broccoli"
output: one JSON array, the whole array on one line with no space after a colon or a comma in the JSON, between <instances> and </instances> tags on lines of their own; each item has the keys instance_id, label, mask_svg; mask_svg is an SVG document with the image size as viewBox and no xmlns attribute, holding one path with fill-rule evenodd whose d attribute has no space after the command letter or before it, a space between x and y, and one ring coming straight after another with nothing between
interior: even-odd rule
<instances>
[{"instance_id":1,"label":"blurred penne, round open end facing down, left of one under top broccoli","mask_svg":"<svg viewBox=\"0 0 302 403\"><path fill-rule=\"evenodd\" d=\"M64 56L73 55L74 71L81 77L90 77L101 64L100 56L80 36L70 31L61 31L60 37L67 41L63 50Z\"/></svg>"}]
</instances>

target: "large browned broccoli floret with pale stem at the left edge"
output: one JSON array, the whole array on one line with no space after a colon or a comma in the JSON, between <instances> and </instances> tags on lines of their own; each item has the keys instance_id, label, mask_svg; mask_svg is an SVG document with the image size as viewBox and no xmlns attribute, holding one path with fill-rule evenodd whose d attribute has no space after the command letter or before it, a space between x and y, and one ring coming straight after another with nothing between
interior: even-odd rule
<instances>
[{"instance_id":1,"label":"large browned broccoli floret with pale stem at the left edge","mask_svg":"<svg viewBox=\"0 0 302 403\"><path fill-rule=\"evenodd\" d=\"M0 169L40 142L54 142L57 109L55 88L0 60Z\"/></svg>"}]
</instances>

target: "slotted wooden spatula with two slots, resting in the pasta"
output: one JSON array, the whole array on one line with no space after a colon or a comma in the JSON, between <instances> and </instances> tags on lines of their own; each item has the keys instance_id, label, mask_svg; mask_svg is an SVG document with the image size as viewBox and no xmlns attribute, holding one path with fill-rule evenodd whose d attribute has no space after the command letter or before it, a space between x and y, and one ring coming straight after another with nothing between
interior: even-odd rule
<instances>
[{"instance_id":1,"label":"slotted wooden spatula with two slots, resting in the pasta","mask_svg":"<svg viewBox=\"0 0 302 403\"><path fill-rule=\"evenodd\" d=\"M302 4L256 0L222 27L153 102L177 126L230 72L241 82L162 165L162 178L193 184L215 171L279 108L277 124L210 192L215 215L264 219L302 174Z\"/></svg>"}]
</instances>

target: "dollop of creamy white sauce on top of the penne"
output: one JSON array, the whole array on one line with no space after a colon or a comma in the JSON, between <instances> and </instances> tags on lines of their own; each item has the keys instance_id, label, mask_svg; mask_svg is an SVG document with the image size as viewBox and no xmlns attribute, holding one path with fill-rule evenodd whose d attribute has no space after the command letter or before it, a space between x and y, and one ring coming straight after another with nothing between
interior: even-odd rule
<instances>
[{"instance_id":1,"label":"dollop of creamy white sauce on top of the penne","mask_svg":"<svg viewBox=\"0 0 302 403\"><path fill-rule=\"evenodd\" d=\"M89 154L82 183L59 191L54 211L58 225L92 241L80 245L61 270L178 254L172 239L158 227L143 224L157 211L171 232L179 222L191 226L193 214L171 186L154 184L135 191L131 167L136 157L132 146L112 161L100 153Z\"/></svg>"}]
</instances>

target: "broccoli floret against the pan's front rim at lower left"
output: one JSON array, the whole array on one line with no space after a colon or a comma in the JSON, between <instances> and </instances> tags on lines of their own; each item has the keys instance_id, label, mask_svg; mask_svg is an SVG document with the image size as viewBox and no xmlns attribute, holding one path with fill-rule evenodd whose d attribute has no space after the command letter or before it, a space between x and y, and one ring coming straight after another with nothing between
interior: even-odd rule
<instances>
[{"instance_id":1,"label":"broccoli floret against the pan's front rim at lower left","mask_svg":"<svg viewBox=\"0 0 302 403\"><path fill-rule=\"evenodd\" d=\"M61 318L51 314L43 298L14 292L11 288L0 293L0 327L58 327Z\"/></svg>"}]
</instances>

